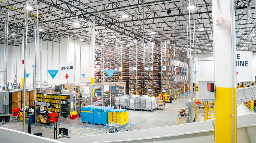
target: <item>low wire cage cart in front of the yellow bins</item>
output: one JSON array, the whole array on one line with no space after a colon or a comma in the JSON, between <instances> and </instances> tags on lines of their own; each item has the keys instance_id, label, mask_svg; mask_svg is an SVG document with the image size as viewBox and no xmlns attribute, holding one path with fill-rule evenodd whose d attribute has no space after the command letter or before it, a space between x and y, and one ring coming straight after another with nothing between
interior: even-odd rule
<instances>
[{"instance_id":1,"label":"low wire cage cart in front of the yellow bins","mask_svg":"<svg viewBox=\"0 0 256 143\"><path fill-rule=\"evenodd\" d=\"M116 132L126 132L131 131L131 124L121 124L121 123L109 123L106 124L106 133L116 133Z\"/></svg>"}]
</instances>

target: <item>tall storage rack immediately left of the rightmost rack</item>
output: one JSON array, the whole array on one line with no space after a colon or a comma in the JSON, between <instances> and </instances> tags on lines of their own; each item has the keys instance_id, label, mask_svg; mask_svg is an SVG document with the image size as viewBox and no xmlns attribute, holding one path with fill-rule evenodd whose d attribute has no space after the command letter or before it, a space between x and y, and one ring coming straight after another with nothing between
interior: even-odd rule
<instances>
[{"instance_id":1,"label":"tall storage rack immediately left of the rightmost rack","mask_svg":"<svg viewBox=\"0 0 256 143\"><path fill-rule=\"evenodd\" d=\"M145 95L161 94L161 47L145 45Z\"/></svg>"}]
</instances>

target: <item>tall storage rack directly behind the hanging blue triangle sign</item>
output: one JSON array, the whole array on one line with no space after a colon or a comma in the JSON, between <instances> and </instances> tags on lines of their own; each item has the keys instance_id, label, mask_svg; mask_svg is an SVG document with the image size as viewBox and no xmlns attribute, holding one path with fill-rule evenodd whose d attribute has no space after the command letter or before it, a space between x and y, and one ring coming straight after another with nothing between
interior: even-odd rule
<instances>
[{"instance_id":1,"label":"tall storage rack directly behind the hanging blue triangle sign","mask_svg":"<svg viewBox=\"0 0 256 143\"><path fill-rule=\"evenodd\" d=\"M103 52L104 69L103 70L115 70L115 49L114 47L105 46ZM110 78L106 72L104 72L104 82L115 82L115 75Z\"/></svg>"}]
</instances>

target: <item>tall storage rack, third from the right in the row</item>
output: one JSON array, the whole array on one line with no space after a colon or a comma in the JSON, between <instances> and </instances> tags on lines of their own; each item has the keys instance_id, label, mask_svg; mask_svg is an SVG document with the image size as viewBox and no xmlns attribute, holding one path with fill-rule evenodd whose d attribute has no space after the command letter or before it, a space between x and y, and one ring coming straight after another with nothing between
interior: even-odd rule
<instances>
[{"instance_id":1,"label":"tall storage rack, third from the right in the row","mask_svg":"<svg viewBox=\"0 0 256 143\"><path fill-rule=\"evenodd\" d=\"M129 94L145 94L145 62L143 62L143 55L143 47L139 45L129 47Z\"/></svg>"}]
</instances>

